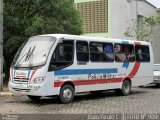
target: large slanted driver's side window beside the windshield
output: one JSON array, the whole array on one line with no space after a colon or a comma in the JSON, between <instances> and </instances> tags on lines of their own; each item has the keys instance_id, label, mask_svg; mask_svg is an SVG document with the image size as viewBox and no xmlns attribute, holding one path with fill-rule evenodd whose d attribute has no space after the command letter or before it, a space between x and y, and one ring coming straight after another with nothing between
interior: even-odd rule
<instances>
[{"instance_id":1,"label":"large slanted driver's side window beside the windshield","mask_svg":"<svg viewBox=\"0 0 160 120\"><path fill-rule=\"evenodd\" d=\"M49 71L62 69L73 63L73 41L59 43L52 55Z\"/></svg>"}]
</instances>

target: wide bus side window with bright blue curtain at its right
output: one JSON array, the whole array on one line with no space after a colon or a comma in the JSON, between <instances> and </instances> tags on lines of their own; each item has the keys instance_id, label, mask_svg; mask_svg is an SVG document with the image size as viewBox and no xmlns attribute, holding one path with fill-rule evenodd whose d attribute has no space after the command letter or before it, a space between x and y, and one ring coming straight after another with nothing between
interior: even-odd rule
<instances>
[{"instance_id":1,"label":"wide bus side window with bright blue curtain at its right","mask_svg":"<svg viewBox=\"0 0 160 120\"><path fill-rule=\"evenodd\" d=\"M92 62L114 61L111 43L90 42L90 60Z\"/></svg>"}]
</instances>

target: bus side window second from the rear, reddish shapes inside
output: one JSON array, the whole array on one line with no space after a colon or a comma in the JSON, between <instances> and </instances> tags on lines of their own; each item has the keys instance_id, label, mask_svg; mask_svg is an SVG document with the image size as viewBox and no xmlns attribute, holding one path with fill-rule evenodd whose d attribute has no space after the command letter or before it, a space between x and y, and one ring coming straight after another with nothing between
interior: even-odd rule
<instances>
[{"instance_id":1,"label":"bus side window second from the rear, reddish shapes inside","mask_svg":"<svg viewBox=\"0 0 160 120\"><path fill-rule=\"evenodd\" d=\"M130 44L115 44L114 45L115 60L117 62L134 62L134 46Z\"/></svg>"}]
</instances>

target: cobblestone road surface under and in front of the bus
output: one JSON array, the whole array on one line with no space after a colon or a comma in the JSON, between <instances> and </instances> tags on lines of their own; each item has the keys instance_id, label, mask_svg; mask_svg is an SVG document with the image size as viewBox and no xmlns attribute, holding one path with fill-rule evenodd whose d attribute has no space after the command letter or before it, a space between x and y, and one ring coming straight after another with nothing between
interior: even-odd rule
<instances>
[{"instance_id":1,"label":"cobblestone road surface under and in front of the bus","mask_svg":"<svg viewBox=\"0 0 160 120\"><path fill-rule=\"evenodd\" d=\"M160 88L133 88L129 96L114 91L103 94L79 94L70 104L60 104L56 98L33 102L26 96L0 96L1 114L158 114Z\"/></svg>"}]
</instances>

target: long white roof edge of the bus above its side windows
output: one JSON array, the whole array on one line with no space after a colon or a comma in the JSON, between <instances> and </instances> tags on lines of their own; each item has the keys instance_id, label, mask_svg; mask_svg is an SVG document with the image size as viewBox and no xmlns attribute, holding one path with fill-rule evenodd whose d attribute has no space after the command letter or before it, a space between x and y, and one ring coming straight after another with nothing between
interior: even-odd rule
<instances>
[{"instance_id":1,"label":"long white roof edge of the bus above its side windows","mask_svg":"<svg viewBox=\"0 0 160 120\"><path fill-rule=\"evenodd\" d=\"M138 43L141 45L151 45L149 42L145 41L136 41L136 40L127 40L127 39L113 39L113 38L101 38L101 37L88 37L83 35L70 35L70 34L44 34L38 36L51 36L57 39L64 38L64 39L75 39L75 40L87 40L87 41L95 41L95 42L112 42L112 43L124 43L124 44L134 44Z\"/></svg>"}]
</instances>

